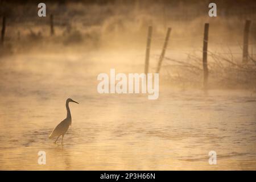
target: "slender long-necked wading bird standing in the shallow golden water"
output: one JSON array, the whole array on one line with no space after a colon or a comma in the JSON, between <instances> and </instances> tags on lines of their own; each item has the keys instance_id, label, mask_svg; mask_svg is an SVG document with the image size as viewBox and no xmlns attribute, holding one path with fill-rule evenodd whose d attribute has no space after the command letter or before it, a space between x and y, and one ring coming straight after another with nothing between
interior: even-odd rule
<instances>
[{"instance_id":1,"label":"slender long-necked wading bird standing in the shallow golden water","mask_svg":"<svg viewBox=\"0 0 256 182\"><path fill-rule=\"evenodd\" d=\"M59 139L60 135L62 135L61 143L63 143L63 137L64 137L65 133L68 131L69 125L71 125L71 123L72 123L71 113L70 113L70 109L68 106L69 102L75 102L75 103L79 104L78 102L73 101L71 98L67 99L67 101L66 101L67 118L65 118L63 121L61 121L59 123L59 125L57 125L55 127L55 129L52 131L51 135L49 135L49 139L51 139L53 137L57 137L57 139L55 140L55 143Z\"/></svg>"}]
</instances>

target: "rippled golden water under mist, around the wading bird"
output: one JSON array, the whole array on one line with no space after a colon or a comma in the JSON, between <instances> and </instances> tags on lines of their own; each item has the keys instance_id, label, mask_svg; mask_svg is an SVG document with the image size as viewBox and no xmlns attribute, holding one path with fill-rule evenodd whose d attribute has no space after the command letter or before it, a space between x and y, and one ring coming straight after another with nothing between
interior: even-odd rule
<instances>
[{"instance_id":1,"label":"rippled golden water under mist, around the wading bird","mask_svg":"<svg viewBox=\"0 0 256 182\"><path fill-rule=\"evenodd\" d=\"M133 53L127 53L134 55ZM139 72L143 56L27 54L1 59L0 169L256 169L256 97L240 90L98 94L98 73ZM140 60L140 61L139 61ZM141 61L142 60L142 61ZM48 139L66 116L64 144ZM46 165L38 151L46 151ZM208 152L217 152L209 165Z\"/></svg>"}]
</instances>

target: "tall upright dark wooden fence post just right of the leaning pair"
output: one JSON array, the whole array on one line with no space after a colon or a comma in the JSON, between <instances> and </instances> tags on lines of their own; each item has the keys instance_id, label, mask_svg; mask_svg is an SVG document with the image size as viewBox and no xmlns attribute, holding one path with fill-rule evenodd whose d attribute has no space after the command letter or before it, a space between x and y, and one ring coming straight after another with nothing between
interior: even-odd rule
<instances>
[{"instance_id":1,"label":"tall upright dark wooden fence post just right of the leaning pair","mask_svg":"<svg viewBox=\"0 0 256 182\"><path fill-rule=\"evenodd\" d=\"M204 44L203 44L203 68L204 68L204 89L208 87L208 67L207 67L207 47L208 47L209 23L204 24Z\"/></svg>"}]
</instances>

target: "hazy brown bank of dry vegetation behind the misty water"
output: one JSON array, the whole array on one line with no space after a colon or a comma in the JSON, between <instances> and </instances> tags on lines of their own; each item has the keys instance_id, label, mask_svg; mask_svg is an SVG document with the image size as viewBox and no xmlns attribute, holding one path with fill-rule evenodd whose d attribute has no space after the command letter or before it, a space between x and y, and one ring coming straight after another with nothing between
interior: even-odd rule
<instances>
[{"instance_id":1,"label":"hazy brown bank of dry vegetation behind the misty water","mask_svg":"<svg viewBox=\"0 0 256 182\"><path fill-rule=\"evenodd\" d=\"M74 47L81 51L102 47L118 47L124 51L144 48L147 27L151 25L153 50L150 63L154 71L166 29L171 27L161 73L170 84L198 88L203 77L203 26L209 22L209 87L255 90L256 3L248 2L242 3L243 6L236 2L232 5L220 2L217 18L209 18L207 1L47 3L47 17L39 18L35 2L14 4L1 1L1 15L7 17L7 28L5 46L0 52L3 56L42 49L57 52ZM49 14L54 15L54 36L50 36ZM246 19L252 21L250 56L249 62L242 64L241 46ZM144 53L143 49L139 51Z\"/></svg>"}]
</instances>

